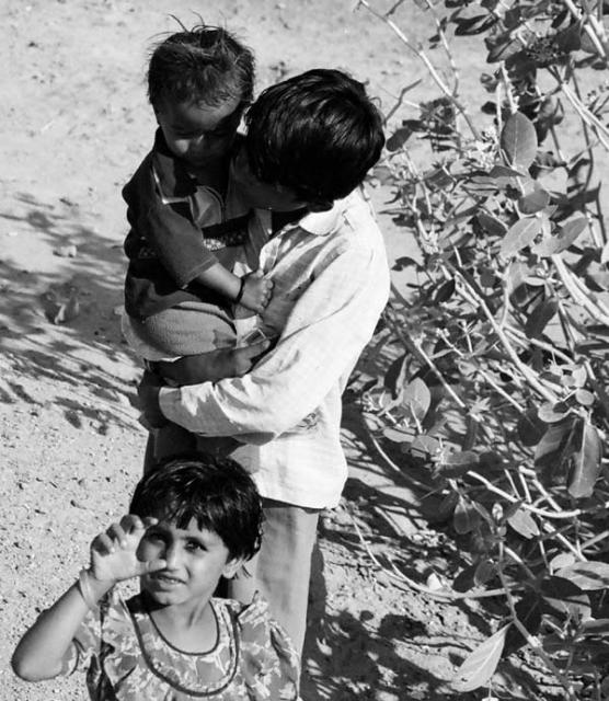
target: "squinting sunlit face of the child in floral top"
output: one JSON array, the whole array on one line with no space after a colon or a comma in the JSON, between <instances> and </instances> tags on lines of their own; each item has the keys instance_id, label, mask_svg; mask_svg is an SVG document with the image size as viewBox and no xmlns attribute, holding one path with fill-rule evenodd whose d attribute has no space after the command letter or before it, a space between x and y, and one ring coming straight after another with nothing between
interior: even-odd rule
<instances>
[{"instance_id":1,"label":"squinting sunlit face of the child in floral top","mask_svg":"<svg viewBox=\"0 0 609 701\"><path fill-rule=\"evenodd\" d=\"M146 531L137 554L141 561L166 561L164 570L141 577L142 588L162 606L207 601L220 577L232 577L241 565L229 559L218 533L202 530L195 519L185 529L159 520Z\"/></svg>"}]
</instances>

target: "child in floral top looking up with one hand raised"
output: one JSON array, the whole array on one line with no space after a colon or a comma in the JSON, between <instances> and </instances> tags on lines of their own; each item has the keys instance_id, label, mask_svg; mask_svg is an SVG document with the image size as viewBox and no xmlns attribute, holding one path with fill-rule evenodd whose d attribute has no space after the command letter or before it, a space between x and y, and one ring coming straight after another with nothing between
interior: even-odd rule
<instances>
[{"instance_id":1,"label":"child in floral top looking up with one hand raised","mask_svg":"<svg viewBox=\"0 0 609 701\"><path fill-rule=\"evenodd\" d=\"M256 598L212 598L260 548L262 508L230 460L174 457L137 485L130 514L91 543L79 579L19 643L27 681L87 670L94 701L298 699L298 656ZM115 584L140 577L124 601Z\"/></svg>"}]
</instances>

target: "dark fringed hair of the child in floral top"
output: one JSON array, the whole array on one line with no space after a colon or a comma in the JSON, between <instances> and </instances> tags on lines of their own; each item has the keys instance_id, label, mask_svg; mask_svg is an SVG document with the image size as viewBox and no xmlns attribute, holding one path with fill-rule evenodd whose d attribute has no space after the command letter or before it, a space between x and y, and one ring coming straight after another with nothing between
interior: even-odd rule
<instances>
[{"instance_id":1,"label":"dark fringed hair of the child in floral top","mask_svg":"<svg viewBox=\"0 0 609 701\"><path fill-rule=\"evenodd\" d=\"M262 504L252 478L230 458L203 453L161 460L136 486L130 513L217 533L230 558L252 558L262 536Z\"/></svg>"}]
</instances>

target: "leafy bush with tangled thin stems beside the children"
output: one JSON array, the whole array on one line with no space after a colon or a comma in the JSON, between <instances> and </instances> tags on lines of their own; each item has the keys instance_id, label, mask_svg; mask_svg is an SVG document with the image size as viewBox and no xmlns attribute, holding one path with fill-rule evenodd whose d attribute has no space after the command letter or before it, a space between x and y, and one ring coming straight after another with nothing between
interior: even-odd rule
<instances>
[{"instance_id":1,"label":"leafy bush with tangled thin stems beside the children","mask_svg":"<svg viewBox=\"0 0 609 701\"><path fill-rule=\"evenodd\" d=\"M378 332L393 359L363 401L402 468L425 466L441 512L469 535L453 589L499 587L508 607L456 687L487 685L502 655L529 645L565 698L601 698L609 244L595 177L609 150L608 5L421 0L435 21L424 47L394 20L401 2L384 14L359 4L424 61L438 93L392 130L376 172L420 254L398 261L417 275L393 288ZM430 58L446 51L455 67L449 38L471 35L487 51L474 106Z\"/></svg>"}]
</instances>

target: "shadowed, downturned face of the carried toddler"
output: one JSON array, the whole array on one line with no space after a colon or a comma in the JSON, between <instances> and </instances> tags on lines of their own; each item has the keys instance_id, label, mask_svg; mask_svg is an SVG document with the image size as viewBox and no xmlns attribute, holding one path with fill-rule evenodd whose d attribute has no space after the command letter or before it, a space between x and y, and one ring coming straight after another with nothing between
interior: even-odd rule
<instances>
[{"instance_id":1,"label":"shadowed, downturned face of the carried toddler","mask_svg":"<svg viewBox=\"0 0 609 701\"><path fill-rule=\"evenodd\" d=\"M241 102L233 97L217 106L200 102L163 102L157 122L170 151L194 169L225 159L241 120Z\"/></svg>"}]
</instances>

